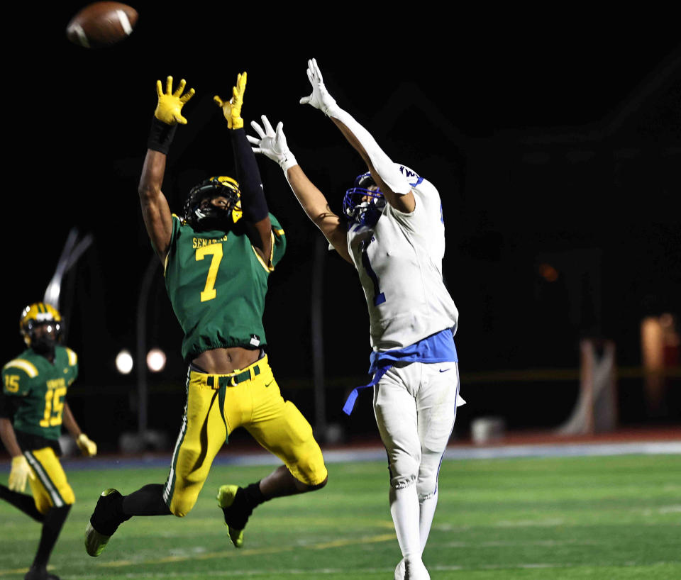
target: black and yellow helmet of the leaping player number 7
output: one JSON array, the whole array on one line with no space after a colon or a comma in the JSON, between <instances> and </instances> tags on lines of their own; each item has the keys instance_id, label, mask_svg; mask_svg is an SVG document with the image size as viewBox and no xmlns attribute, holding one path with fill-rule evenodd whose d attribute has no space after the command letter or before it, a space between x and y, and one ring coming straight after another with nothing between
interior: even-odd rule
<instances>
[{"instance_id":1,"label":"black and yellow helmet of the leaping player number 7","mask_svg":"<svg viewBox=\"0 0 681 580\"><path fill-rule=\"evenodd\" d=\"M206 200L210 202L216 197L226 198L226 206L202 203ZM194 228L226 229L238 222L242 215L239 184L231 177L205 179L189 191L187 201L184 202L184 221Z\"/></svg>"}]
</instances>

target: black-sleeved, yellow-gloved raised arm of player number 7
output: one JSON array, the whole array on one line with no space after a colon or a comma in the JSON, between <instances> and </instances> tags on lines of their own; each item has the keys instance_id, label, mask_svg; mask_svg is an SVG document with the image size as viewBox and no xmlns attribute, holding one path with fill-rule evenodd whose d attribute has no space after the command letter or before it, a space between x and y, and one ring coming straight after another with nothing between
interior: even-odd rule
<instances>
[{"instance_id":1,"label":"black-sleeved, yellow-gloved raised arm of player number 7","mask_svg":"<svg viewBox=\"0 0 681 580\"><path fill-rule=\"evenodd\" d=\"M234 152L234 164L236 165L236 180L241 191L241 209L243 218L253 224L255 235L250 236L253 247L261 257L270 260L272 250L272 223L267 208L265 191L262 188L260 169L255 155L248 144L246 133L243 129L241 107L243 106L243 94L246 90L246 72L236 77L236 85L232 89L232 97L228 101L214 96L215 103L222 108L230 129L232 150Z\"/></svg>"}]
</instances>

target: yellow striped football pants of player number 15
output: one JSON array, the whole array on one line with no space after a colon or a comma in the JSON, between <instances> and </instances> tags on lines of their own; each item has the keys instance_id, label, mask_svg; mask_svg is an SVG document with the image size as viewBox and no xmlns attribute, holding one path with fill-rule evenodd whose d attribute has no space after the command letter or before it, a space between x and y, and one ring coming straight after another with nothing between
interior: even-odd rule
<instances>
[{"instance_id":1,"label":"yellow striped football pants of player number 15","mask_svg":"<svg viewBox=\"0 0 681 580\"><path fill-rule=\"evenodd\" d=\"M47 513L51 507L61 508L76 501L66 480L64 468L52 447L25 451L23 455L35 475L28 482L31 484L35 507L40 513Z\"/></svg>"}]
</instances>

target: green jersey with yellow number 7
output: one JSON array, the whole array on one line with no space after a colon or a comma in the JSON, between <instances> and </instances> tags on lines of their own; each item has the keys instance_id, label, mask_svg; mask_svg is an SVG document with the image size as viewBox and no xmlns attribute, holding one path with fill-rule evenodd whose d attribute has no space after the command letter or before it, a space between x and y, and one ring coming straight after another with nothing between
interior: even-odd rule
<instances>
[{"instance_id":1,"label":"green jersey with yellow number 7","mask_svg":"<svg viewBox=\"0 0 681 580\"><path fill-rule=\"evenodd\" d=\"M271 266L255 251L243 228L227 233L195 231L172 216L165 288L184 331L182 357L187 362L214 348L266 344L262 314L267 280L286 248L284 230L271 213L270 221Z\"/></svg>"}]
</instances>

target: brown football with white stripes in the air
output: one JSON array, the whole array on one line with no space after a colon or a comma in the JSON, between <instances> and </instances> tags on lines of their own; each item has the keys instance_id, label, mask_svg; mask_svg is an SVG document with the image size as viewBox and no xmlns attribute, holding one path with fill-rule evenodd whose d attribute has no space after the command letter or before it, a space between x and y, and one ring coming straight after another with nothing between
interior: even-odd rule
<instances>
[{"instance_id":1,"label":"brown football with white stripes in the air","mask_svg":"<svg viewBox=\"0 0 681 580\"><path fill-rule=\"evenodd\" d=\"M81 9L66 27L66 36L84 48L103 48L128 38L138 13L121 2L94 2Z\"/></svg>"}]
</instances>

